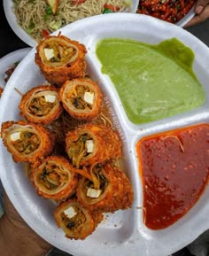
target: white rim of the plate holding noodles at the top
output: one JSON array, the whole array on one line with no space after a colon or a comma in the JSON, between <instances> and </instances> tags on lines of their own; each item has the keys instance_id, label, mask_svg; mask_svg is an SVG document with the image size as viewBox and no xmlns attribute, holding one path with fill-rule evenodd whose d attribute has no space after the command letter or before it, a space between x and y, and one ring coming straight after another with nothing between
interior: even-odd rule
<instances>
[{"instance_id":1,"label":"white rim of the plate holding noodles at the top","mask_svg":"<svg viewBox=\"0 0 209 256\"><path fill-rule=\"evenodd\" d=\"M131 12L136 12L139 0L133 0L133 6ZM27 32L21 28L17 22L16 16L13 12L14 2L13 0L4 0L4 13L10 27L12 27L13 32L19 36L19 38L27 43L29 46L34 47L37 43L33 37L27 34Z\"/></svg>"}]
</instances>

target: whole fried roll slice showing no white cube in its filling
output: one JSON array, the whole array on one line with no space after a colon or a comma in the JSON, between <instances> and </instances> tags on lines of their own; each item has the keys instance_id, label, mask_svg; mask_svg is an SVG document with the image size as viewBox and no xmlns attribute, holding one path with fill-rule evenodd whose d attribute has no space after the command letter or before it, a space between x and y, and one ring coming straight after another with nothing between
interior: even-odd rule
<instances>
[{"instance_id":1,"label":"whole fried roll slice showing no white cube in its filling","mask_svg":"<svg viewBox=\"0 0 209 256\"><path fill-rule=\"evenodd\" d=\"M58 202L72 196L78 183L74 167L61 156L50 156L31 173L38 195Z\"/></svg>"}]
</instances>

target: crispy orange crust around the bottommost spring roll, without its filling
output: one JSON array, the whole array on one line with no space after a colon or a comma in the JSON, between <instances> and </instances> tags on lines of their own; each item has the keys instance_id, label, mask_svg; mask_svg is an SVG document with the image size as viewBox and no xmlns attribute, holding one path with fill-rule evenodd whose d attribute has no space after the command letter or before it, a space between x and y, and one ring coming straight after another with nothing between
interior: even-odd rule
<instances>
[{"instance_id":1,"label":"crispy orange crust around the bottommost spring roll, without its filling","mask_svg":"<svg viewBox=\"0 0 209 256\"><path fill-rule=\"evenodd\" d=\"M62 221L60 213L62 213L66 208L70 206L78 206L81 209L81 212L85 214L85 218L79 220L81 222L81 226L79 230L75 230L74 232L71 229L66 228L66 225ZM55 220L57 223L58 228L61 227L63 231L66 233L66 237L70 239L81 239L84 240L93 231L97 228L97 225L103 220L103 214L100 212L92 212L88 209L85 209L83 206L77 202L76 199L68 199L67 201L61 203L58 208L56 209L55 213Z\"/></svg>"}]
</instances>

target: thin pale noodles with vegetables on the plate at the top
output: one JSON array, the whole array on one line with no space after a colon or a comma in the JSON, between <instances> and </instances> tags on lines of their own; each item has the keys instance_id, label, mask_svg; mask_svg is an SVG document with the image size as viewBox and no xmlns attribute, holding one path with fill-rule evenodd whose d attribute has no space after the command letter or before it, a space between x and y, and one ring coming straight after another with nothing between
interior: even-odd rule
<instances>
[{"instance_id":1,"label":"thin pale noodles with vegetables on the plate at the top","mask_svg":"<svg viewBox=\"0 0 209 256\"><path fill-rule=\"evenodd\" d=\"M57 14L53 15L46 11L49 5L45 0L15 0L14 13L19 26L39 41L44 33L50 34L75 20L103 13L104 4L114 6L114 12L127 12L132 1L86 0L82 4L74 4L74 0L62 0L59 1Z\"/></svg>"}]
</instances>

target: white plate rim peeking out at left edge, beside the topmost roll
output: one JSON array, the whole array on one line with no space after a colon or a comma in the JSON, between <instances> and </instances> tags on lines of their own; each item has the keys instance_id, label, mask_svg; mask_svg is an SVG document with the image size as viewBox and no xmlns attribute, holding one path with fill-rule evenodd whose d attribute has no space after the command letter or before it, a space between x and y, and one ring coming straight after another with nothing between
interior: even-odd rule
<instances>
[{"instance_id":1,"label":"white plate rim peeking out at left edge, beside the topmost roll","mask_svg":"<svg viewBox=\"0 0 209 256\"><path fill-rule=\"evenodd\" d=\"M0 58L0 86L4 88L6 82L4 81L5 72L11 68L16 62L20 62L24 58L31 48L24 48L12 51L3 58Z\"/></svg>"}]
</instances>

